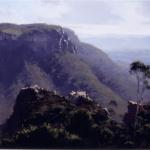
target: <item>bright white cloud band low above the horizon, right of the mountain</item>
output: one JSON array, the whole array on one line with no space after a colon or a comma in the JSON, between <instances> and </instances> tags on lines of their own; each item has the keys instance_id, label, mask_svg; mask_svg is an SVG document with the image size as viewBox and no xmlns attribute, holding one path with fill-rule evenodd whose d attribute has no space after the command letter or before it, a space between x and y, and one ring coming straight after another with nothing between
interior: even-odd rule
<instances>
[{"instance_id":1,"label":"bright white cloud band low above the horizon, right of the mountain","mask_svg":"<svg viewBox=\"0 0 150 150\"><path fill-rule=\"evenodd\" d=\"M128 36L149 36L150 27L149 25L97 25L97 24L73 24L68 25L69 28L73 29L80 38L89 37L104 37L114 35L128 35Z\"/></svg>"}]
</instances>

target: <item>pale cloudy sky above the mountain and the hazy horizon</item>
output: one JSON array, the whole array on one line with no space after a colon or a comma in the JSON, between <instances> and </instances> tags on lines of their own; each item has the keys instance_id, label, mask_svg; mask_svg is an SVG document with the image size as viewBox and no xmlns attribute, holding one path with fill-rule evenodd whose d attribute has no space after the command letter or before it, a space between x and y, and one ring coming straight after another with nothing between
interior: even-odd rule
<instances>
[{"instance_id":1,"label":"pale cloudy sky above the mountain and the hazy horizon","mask_svg":"<svg viewBox=\"0 0 150 150\"><path fill-rule=\"evenodd\" d=\"M145 38L150 36L150 1L0 0L0 22L61 25L95 44L107 37Z\"/></svg>"}]
</instances>

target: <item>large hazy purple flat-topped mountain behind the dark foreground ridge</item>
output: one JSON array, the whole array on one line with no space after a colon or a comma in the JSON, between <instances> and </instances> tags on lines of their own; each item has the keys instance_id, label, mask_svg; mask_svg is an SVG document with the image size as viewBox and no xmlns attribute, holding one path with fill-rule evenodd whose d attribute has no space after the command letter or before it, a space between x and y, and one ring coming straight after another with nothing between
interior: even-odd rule
<instances>
[{"instance_id":1,"label":"large hazy purple flat-topped mountain behind the dark foreground ridge","mask_svg":"<svg viewBox=\"0 0 150 150\"><path fill-rule=\"evenodd\" d=\"M84 90L103 105L116 101L119 114L125 111L124 100L134 98L134 85L128 75L104 52L81 43L69 29L45 24L0 24L0 39L1 104L5 104L0 113L2 122L25 85L38 84L63 95Z\"/></svg>"}]
</instances>

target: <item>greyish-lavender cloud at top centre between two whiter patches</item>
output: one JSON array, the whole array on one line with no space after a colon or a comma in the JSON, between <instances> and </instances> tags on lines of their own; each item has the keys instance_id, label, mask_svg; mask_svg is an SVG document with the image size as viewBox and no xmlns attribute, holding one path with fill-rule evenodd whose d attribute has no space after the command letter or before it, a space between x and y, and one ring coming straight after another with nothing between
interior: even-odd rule
<instances>
[{"instance_id":1,"label":"greyish-lavender cloud at top centre between two whiter patches","mask_svg":"<svg viewBox=\"0 0 150 150\"><path fill-rule=\"evenodd\" d=\"M67 23L113 24L120 21L120 16L113 14L112 7L105 1L71 0L67 3L70 7L64 18Z\"/></svg>"}]
</instances>

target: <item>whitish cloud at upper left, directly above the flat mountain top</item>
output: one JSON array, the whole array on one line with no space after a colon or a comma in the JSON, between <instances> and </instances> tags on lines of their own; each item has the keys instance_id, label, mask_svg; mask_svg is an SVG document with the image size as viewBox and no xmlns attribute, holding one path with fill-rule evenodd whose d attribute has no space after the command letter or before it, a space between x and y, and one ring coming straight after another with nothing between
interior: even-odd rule
<instances>
[{"instance_id":1,"label":"whitish cloud at upper left, directly above the flat mountain top","mask_svg":"<svg viewBox=\"0 0 150 150\"><path fill-rule=\"evenodd\" d=\"M11 23L50 23L60 19L68 12L68 7L63 1L54 5L45 0L1 0L0 22ZM5 14L5 15L2 15Z\"/></svg>"}]
</instances>

